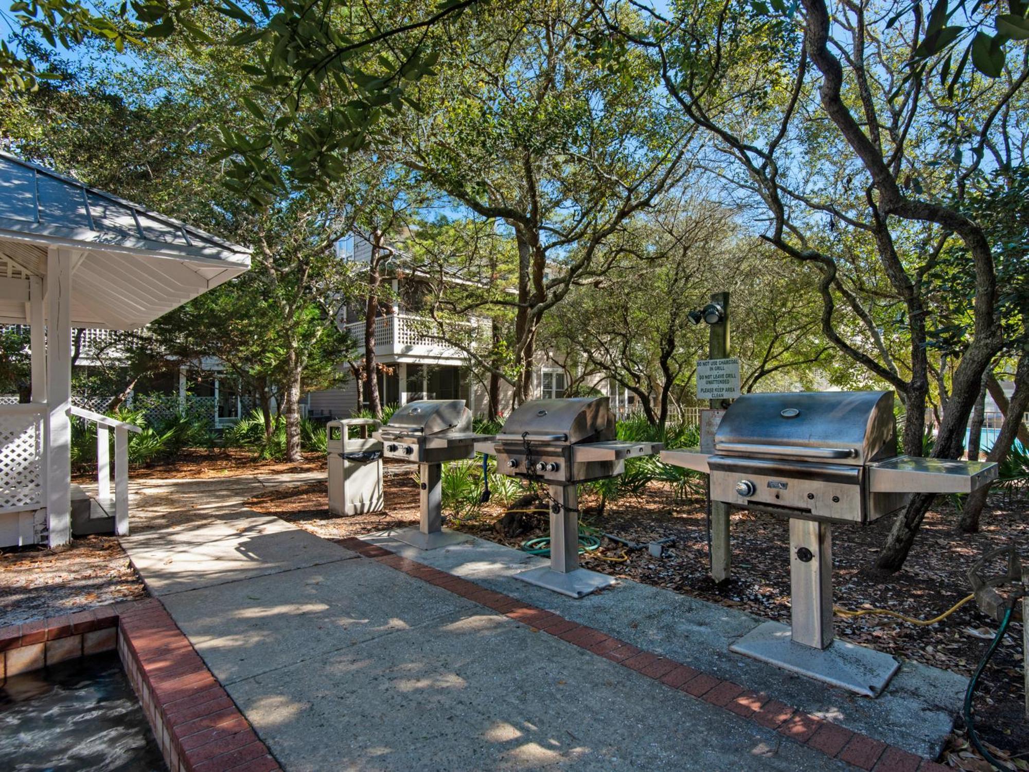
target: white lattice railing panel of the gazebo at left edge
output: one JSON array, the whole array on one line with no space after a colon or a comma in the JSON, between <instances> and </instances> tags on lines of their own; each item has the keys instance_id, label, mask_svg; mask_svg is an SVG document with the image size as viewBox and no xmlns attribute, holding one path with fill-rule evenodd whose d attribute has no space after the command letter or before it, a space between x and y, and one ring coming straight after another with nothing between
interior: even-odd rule
<instances>
[{"instance_id":1,"label":"white lattice railing panel of the gazebo at left edge","mask_svg":"<svg viewBox=\"0 0 1029 772\"><path fill-rule=\"evenodd\" d=\"M45 412L45 405L0 405L0 513L43 506Z\"/></svg>"}]
</instances>

